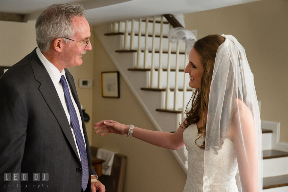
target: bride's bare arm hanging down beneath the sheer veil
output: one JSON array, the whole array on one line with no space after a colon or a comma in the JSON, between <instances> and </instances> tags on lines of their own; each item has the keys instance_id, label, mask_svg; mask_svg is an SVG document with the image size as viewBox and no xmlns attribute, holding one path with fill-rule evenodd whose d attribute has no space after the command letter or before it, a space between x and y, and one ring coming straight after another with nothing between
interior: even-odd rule
<instances>
[{"instance_id":1,"label":"bride's bare arm hanging down beneath the sheer veil","mask_svg":"<svg viewBox=\"0 0 288 192\"><path fill-rule=\"evenodd\" d=\"M234 142L242 191L258 192L256 131L253 116L246 105L238 109L229 129L227 136L230 135Z\"/></svg>"}]
</instances>

